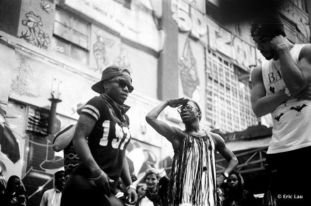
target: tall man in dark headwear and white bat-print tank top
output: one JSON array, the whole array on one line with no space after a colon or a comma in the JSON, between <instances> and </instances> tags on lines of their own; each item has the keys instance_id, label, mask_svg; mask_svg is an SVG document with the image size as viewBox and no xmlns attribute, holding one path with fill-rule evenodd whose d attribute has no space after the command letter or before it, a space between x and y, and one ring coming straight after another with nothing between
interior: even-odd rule
<instances>
[{"instance_id":1,"label":"tall man in dark headwear and white bat-print tank top","mask_svg":"<svg viewBox=\"0 0 311 206\"><path fill-rule=\"evenodd\" d=\"M272 190L281 195L278 205L303 205L310 195L302 184L305 179L311 183L309 177L301 180L309 171L304 157L311 154L311 45L291 43L278 12L256 20L251 36L266 59L251 73L251 102L258 117L271 113L273 119L266 155L269 166L277 171ZM283 198L283 194L303 194L304 198Z\"/></svg>"}]
</instances>

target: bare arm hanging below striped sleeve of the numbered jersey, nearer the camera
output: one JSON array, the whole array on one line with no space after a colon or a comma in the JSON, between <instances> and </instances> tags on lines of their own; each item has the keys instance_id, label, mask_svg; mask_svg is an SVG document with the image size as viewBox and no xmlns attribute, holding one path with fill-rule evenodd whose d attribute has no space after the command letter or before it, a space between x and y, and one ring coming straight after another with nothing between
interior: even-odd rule
<instances>
[{"instance_id":1,"label":"bare arm hanging below striped sleeve of the numbered jersey, nearer the camera","mask_svg":"<svg viewBox=\"0 0 311 206\"><path fill-rule=\"evenodd\" d=\"M91 176L96 178L94 183L100 190L109 193L109 183L112 181L108 178L93 158L91 151L86 143L86 137L89 136L96 121L85 114L81 114L76 125L73 137L73 147L79 156L81 163L85 165L91 172ZM112 181L113 182L113 181Z\"/></svg>"}]
</instances>

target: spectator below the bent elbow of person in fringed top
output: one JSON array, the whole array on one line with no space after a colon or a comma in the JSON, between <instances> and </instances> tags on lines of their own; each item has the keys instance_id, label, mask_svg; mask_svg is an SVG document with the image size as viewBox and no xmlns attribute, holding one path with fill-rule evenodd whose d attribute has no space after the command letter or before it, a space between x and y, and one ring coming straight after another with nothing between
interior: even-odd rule
<instances>
[{"instance_id":1,"label":"spectator below the bent elbow of person in fringed top","mask_svg":"<svg viewBox=\"0 0 311 206\"><path fill-rule=\"evenodd\" d=\"M252 193L244 190L242 176L237 171L232 171L227 178L228 192L223 206L256 206L256 199Z\"/></svg>"}]
</instances>

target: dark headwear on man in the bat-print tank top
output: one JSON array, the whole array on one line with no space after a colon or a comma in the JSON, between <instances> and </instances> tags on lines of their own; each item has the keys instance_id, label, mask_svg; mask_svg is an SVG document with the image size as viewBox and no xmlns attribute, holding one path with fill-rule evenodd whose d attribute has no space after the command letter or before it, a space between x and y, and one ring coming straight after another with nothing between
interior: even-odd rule
<instances>
[{"instance_id":1,"label":"dark headwear on man in the bat-print tank top","mask_svg":"<svg viewBox=\"0 0 311 206\"><path fill-rule=\"evenodd\" d=\"M251 27L251 36L286 36L284 24L282 23L254 23Z\"/></svg>"}]
</instances>

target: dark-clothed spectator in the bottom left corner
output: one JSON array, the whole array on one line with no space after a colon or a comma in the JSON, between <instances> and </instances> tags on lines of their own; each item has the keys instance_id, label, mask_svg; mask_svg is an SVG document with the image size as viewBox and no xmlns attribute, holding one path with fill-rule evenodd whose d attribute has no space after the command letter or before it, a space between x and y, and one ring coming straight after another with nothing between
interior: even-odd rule
<instances>
[{"instance_id":1,"label":"dark-clothed spectator in the bottom left corner","mask_svg":"<svg viewBox=\"0 0 311 206\"><path fill-rule=\"evenodd\" d=\"M0 192L1 206L26 206L26 192L20 183L18 176L12 175L9 177L6 189Z\"/></svg>"}]
</instances>

